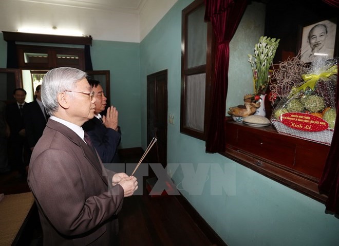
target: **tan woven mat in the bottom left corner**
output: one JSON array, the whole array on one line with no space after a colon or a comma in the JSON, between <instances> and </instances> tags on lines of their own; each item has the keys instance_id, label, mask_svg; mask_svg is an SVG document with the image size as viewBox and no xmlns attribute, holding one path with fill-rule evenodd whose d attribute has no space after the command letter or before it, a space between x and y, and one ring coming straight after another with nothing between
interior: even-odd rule
<instances>
[{"instance_id":1,"label":"tan woven mat in the bottom left corner","mask_svg":"<svg viewBox=\"0 0 339 246\"><path fill-rule=\"evenodd\" d=\"M0 201L0 246L12 244L33 204L31 192L5 195Z\"/></svg>"}]
</instances>

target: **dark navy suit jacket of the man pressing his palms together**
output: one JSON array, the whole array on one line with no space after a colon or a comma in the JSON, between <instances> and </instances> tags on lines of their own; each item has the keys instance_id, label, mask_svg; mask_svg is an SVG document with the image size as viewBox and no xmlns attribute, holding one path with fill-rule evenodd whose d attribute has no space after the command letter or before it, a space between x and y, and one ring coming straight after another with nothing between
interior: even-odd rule
<instances>
[{"instance_id":1,"label":"dark navy suit jacket of the man pressing his palms together","mask_svg":"<svg viewBox=\"0 0 339 246\"><path fill-rule=\"evenodd\" d=\"M87 121L82 127L87 131L103 163L120 163L118 145L121 133L106 128L96 117Z\"/></svg>"}]
</instances>

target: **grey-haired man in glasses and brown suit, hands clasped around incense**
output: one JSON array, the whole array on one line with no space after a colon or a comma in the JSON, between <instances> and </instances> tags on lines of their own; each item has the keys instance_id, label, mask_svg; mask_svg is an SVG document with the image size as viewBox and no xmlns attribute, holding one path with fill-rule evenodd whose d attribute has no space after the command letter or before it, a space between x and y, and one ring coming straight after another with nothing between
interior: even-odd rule
<instances>
[{"instance_id":1,"label":"grey-haired man in glasses and brown suit, hands clasped around incense","mask_svg":"<svg viewBox=\"0 0 339 246\"><path fill-rule=\"evenodd\" d=\"M37 141L28 185L34 194L44 245L115 245L117 214L137 179L105 169L81 127L94 116L86 73L59 67L45 74L42 102L50 118Z\"/></svg>"}]
</instances>

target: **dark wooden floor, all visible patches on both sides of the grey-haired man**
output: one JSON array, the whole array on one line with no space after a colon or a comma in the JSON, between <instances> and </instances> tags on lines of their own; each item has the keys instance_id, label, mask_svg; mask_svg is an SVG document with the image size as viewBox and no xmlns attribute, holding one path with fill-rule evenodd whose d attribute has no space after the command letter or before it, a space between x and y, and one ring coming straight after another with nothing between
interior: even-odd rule
<instances>
[{"instance_id":1,"label":"dark wooden floor, all visible patches on both sides of the grey-haired man","mask_svg":"<svg viewBox=\"0 0 339 246\"><path fill-rule=\"evenodd\" d=\"M139 157L129 156L125 157L124 161L136 163L138 160ZM226 245L185 198L182 196L151 197L145 188L146 182L143 184L144 187L139 187L143 188L143 195L128 197L123 201L123 208L119 213L120 246ZM25 177L18 177L15 172L0 175L0 194L28 191ZM28 235L24 235L25 239L20 241L19 245L42 245L39 216L33 213L32 217L33 221L28 223L30 231Z\"/></svg>"}]
</instances>

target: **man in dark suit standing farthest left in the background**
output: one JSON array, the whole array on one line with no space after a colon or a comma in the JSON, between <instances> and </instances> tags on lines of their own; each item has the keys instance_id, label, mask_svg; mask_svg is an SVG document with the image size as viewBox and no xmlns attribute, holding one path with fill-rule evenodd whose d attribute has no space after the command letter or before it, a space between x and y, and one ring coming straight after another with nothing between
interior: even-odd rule
<instances>
[{"instance_id":1,"label":"man in dark suit standing farthest left in the background","mask_svg":"<svg viewBox=\"0 0 339 246\"><path fill-rule=\"evenodd\" d=\"M6 108L6 120L10 128L8 139L9 162L12 169L16 169L20 175L25 175L25 166L29 164L29 148L24 125L24 110L27 105L25 102L26 94L26 90L16 88L13 91L15 102L8 104Z\"/></svg>"}]
</instances>

